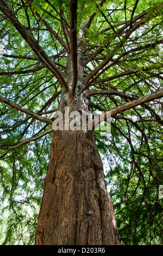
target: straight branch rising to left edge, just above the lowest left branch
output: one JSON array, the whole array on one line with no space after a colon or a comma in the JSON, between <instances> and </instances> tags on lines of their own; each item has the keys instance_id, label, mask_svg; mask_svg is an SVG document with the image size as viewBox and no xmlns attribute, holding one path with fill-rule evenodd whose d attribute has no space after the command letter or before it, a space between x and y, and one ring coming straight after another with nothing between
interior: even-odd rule
<instances>
[{"instance_id":1,"label":"straight branch rising to left edge, just above the lowest left branch","mask_svg":"<svg viewBox=\"0 0 163 256\"><path fill-rule=\"evenodd\" d=\"M39 114L36 114L33 111L30 111L29 109L24 108L24 107L18 105L17 103L15 103L15 102L7 100L7 99L5 99L2 96L0 96L0 102L3 102L3 103L5 103L8 106L17 109L18 111L26 113L26 114L30 115L30 117L36 118L37 120L42 121L42 122L44 122L46 124L51 124L52 125L52 123L53 123L53 121L51 119L48 119L46 117L41 117Z\"/></svg>"}]
</instances>

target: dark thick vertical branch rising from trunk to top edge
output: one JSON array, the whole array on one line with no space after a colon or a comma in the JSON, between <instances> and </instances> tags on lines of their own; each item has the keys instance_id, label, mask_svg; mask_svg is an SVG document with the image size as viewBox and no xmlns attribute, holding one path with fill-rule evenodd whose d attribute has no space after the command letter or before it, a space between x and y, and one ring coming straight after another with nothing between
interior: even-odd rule
<instances>
[{"instance_id":1,"label":"dark thick vertical branch rising from trunk to top edge","mask_svg":"<svg viewBox=\"0 0 163 256\"><path fill-rule=\"evenodd\" d=\"M70 3L70 39L72 52L73 82L71 93L74 94L78 79L78 53L77 53L77 7L78 0L71 0Z\"/></svg>"}]
</instances>

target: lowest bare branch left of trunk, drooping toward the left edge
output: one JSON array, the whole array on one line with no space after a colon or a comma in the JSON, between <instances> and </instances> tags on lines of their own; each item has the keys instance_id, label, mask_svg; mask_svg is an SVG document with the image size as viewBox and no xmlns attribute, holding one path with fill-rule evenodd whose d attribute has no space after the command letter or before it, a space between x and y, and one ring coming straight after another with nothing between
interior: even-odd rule
<instances>
[{"instance_id":1,"label":"lowest bare branch left of trunk, drooping toward the left edge","mask_svg":"<svg viewBox=\"0 0 163 256\"><path fill-rule=\"evenodd\" d=\"M20 147L20 146L22 146L22 145L24 145L24 144L29 143L29 142L36 141L37 139L40 139L40 138L42 138L43 136L45 136L45 135L47 135L47 134L49 134L49 133L51 133L51 132L54 132L54 129L53 129L53 128L52 128L52 129L49 129L49 130L47 130L47 131L45 131L45 132L42 132L42 133L40 133L40 134L37 135L37 136L31 137L31 138L28 138L28 139L24 139L24 141L21 141L21 142L19 142L18 144L10 145L10 146L0 146L0 149L15 149L15 148L18 148L18 147Z\"/></svg>"}]
</instances>

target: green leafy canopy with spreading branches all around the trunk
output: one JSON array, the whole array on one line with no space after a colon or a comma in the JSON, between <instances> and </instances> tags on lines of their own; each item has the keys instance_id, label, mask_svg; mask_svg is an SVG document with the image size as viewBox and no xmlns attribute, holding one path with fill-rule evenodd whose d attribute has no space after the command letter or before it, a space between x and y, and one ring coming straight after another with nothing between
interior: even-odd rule
<instances>
[{"instance_id":1,"label":"green leafy canopy with spreading branches all around the trunk","mask_svg":"<svg viewBox=\"0 0 163 256\"><path fill-rule=\"evenodd\" d=\"M1 243L34 243L53 115L80 62L90 110L111 111L110 134L95 138L122 245L162 245L162 1L11 0L0 11Z\"/></svg>"}]
</instances>

